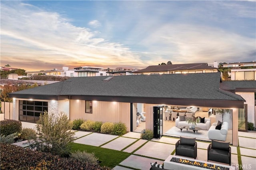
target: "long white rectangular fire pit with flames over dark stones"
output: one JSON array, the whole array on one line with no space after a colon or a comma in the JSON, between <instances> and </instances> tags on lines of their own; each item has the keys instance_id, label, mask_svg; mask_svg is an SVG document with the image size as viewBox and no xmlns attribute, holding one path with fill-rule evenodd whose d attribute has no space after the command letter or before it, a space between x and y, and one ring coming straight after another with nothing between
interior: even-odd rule
<instances>
[{"instance_id":1,"label":"long white rectangular fire pit with flames over dark stones","mask_svg":"<svg viewBox=\"0 0 256 170\"><path fill-rule=\"evenodd\" d=\"M175 170L234 170L235 168L229 165L218 164L214 162L206 162L187 158L182 156L170 155L164 161L164 168Z\"/></svg>"}]
</instances>

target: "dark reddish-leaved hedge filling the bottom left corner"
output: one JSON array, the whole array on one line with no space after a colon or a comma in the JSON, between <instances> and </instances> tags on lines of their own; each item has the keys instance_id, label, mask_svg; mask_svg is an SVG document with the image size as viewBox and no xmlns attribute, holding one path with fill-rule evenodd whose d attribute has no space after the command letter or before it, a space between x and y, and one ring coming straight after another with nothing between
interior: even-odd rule
<instances>
[{"instance_id":1,"label":"dark reddish-leaved hedge filling the bottom left corner","mask_svg":"<svg viewBox=\"0 0 256 170\"><path fill-rule=\"evenodd\" d=\"M92 166L74 158L24 149L17 145L1 144L1 170L110 170L99 165Z\"/></svg>"}]
</instances>

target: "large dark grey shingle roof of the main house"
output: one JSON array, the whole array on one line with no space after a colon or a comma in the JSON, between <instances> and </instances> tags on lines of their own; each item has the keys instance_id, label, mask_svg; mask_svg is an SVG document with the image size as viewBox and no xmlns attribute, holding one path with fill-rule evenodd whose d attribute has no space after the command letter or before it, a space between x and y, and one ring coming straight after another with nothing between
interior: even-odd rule
<instances>
[{"instance_id":1,"label":"large dark grey shingle roof of the main house","mask_svg":"<svg viewBox=\"0 0 256 170\"><path fill-rule=\"evenodd\" d=\"M114 76L103 81L107 77L74 77L13 92L9 96L45 100L80 99L153 104L164 102L189 106L215 106L218 102L225 104L226 101L239 102L243 106L244 102L241 96L219 88L219 72Z\"/></svg>"}]
</instances>

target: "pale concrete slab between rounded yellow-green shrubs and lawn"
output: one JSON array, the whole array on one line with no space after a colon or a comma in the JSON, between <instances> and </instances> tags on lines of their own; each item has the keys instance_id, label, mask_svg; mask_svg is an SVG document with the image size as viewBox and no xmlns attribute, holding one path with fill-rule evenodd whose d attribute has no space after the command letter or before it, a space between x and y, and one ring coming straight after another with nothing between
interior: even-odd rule
<instances>
[{"instance_id":1,"label":"pale concrete slab between rounded yellow-green shrubs and lawn","mask_svg":"<svg viewBox=\"0 0 256 170\"><path fill-rule=\"evenodd\" d=\"M102 133L92 133L90 135L87 135L85 137L82 137L80 139L74 140L74 143L80 143L84 145L92 145L92 146L100 146L108 141L111 141L118 136L116 135L107 135Z\"/></svg>"}]
</instances>

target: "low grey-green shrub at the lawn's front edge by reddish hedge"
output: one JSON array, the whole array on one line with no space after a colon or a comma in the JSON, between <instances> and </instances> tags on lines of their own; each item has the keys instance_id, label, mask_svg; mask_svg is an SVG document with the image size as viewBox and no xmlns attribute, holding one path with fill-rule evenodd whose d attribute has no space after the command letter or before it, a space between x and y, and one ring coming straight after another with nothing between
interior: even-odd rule
<instances>
[{"instance_id":1,"label":"low grey-green shrub at the lawn's front edge by reddish hedge","mask_svg":"<svg viewBox=\"0 0 256 170\"><path fill-rule=\"evenodd\" d=\"M81 152L80 150L77 150L70 154L71 158L75 158L77 160L81 160L82 162L87 162L89 165L97 165L98 164L98 158L94 156L93 153L87 153L86 151Z\"/></svg>"}]
</instances>

